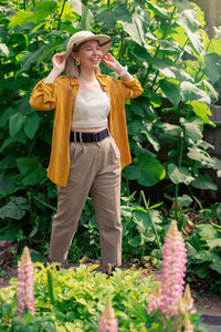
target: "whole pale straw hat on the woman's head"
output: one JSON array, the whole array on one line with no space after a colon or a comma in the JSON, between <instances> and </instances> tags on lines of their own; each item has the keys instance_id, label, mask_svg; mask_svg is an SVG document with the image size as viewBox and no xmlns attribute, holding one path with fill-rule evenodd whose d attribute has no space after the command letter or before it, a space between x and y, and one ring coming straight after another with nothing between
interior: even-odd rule
<instances>
[{"instance_id":1,"label":"whole pale straw hat on the woman's head","mask_svg":"<svg viewBox=\"0 0 221 332\"><path fill-rule=\"evenodd\" d=\"M80 44L88 40L97 40L104 55L109 51L112 46L112 39L106 34L94 34L91 31L80 31L74 33L67 42L65 54L66 59L71 55L74 49L77 49Z\"/></svg>"}]
</instances>

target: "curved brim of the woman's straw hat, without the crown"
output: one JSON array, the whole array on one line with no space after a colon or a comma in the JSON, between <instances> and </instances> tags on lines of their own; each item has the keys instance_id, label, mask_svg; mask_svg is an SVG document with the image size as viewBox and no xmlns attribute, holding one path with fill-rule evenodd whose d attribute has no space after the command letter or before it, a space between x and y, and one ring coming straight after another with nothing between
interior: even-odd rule
<instances>
[{"instance_id":1,"label":"curved brim of the woman's straw hat, without the crown","mask_svg":"<svg viewBox=\"0 0 221 332\"><path fill-rule=\"evenodd\" d=\"M99 46L102 49L103 56L106 55L112 48L110 37L106 35L106 34L94 34L94 35L85 37L81 40L81 42L72 45L70 48L70 50L66 51L65 58L67 59L71 55L71 53L73 52L73 48L78 48L82 43L90 41L90 40L98 41Z\"/></svg>"}]
</instances>

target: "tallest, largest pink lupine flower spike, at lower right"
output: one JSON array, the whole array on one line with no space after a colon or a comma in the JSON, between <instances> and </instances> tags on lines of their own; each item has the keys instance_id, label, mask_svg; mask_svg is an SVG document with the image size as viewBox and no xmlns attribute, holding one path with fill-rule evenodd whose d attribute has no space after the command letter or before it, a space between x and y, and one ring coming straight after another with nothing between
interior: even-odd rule
<instances>
[{"instance_id":1,"label":"tallest, largest pink lupine flower spike, at lower right","mask_svg":"<svg viewBox=\"0 0 221 332\"><path fill-rule=\"evenodd\" d=\"M178 231L177 221L172 220L162 250L160 309L166 318L178 312L179 298L182 295L185 284L186 263L185 241Z\"/></svg>"}]
</instances>

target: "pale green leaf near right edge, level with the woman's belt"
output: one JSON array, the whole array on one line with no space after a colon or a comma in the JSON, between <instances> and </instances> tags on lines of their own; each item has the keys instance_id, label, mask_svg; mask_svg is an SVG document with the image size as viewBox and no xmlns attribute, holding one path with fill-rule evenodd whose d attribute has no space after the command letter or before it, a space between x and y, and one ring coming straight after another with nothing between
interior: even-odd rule
<instances>
[{"instance_id":1,"label":"pale green leaf near right edge, level with the woman's belt","mask_svg":"<svg viewBox=\"0 0 221 332\"><path fill-rule=\"evenodd\" d=\"M203 124L199 117L191 117L190 120L180 120L185 128L185 138L187 143L197 144L203 137Z\"/></svg>"}]
</instances>

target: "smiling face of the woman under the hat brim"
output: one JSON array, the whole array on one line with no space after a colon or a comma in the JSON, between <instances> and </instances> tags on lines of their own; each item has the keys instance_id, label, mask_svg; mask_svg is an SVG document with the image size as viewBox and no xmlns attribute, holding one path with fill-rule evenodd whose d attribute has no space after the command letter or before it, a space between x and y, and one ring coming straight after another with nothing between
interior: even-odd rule
<instances>
[{"instance_id":1,"label":"smiling face of the woman under the hat brim","mask_svg":"<svg viewBox=\"0 0 221 332\"><path fill-rule=\"evenodd\" d=\"M103 58L102 49L96 40L90 40L80 46L75 59L80 60L80 66L86 70L97 69Z\"/></svg>"}]
</instances>

